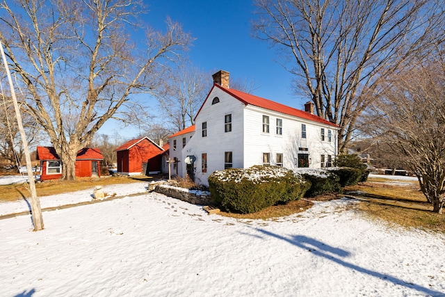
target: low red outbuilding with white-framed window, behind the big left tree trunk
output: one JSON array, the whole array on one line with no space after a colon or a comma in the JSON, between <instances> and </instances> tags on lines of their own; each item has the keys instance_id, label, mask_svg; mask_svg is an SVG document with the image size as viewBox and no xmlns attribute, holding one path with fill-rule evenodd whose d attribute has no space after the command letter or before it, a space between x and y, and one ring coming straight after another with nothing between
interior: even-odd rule
<instances>
[{"instance_id":1,"label":"low red outbuilding with white-framed window, behind the big left tree trunk","mask_svg":"<svg viewBox=\"0 0 445 297\"><path fill-rule=\"evenodd\" d=\"M37 147L40 160L40 181L62 177L63 164L54 147ZM83 148L77 152L76 177L100 177L100 161L104 159L97 148Z\"/></svg>"}]
</instances>

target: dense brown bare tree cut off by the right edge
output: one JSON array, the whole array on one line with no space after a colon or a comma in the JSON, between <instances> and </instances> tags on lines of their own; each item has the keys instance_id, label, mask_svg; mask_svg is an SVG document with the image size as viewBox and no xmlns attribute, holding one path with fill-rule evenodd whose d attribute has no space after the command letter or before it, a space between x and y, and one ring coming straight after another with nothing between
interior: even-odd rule
<instances>
[{"instance_id":1,"label":"dense brown bare tree cut off by the right edge","mask_svg":"<svg viewBox=\"0 0 445 297\"><path fill-rule=\"evenodd\" d=\"M416 63L388 79L366 117L368 133L387 144L419 179L434 211L445 204L445 63Z\"/></svg>"}]
</instances>

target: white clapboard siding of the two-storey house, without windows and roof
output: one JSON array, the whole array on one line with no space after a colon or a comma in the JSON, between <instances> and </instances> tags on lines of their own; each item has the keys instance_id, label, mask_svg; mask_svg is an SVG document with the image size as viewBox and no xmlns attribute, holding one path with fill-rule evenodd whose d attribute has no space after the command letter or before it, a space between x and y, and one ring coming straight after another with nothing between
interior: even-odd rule
<instances>
[{"instance_id":1,"label":"white clapboard siding of the two-storey house, without windows and roof","mask_svg":"<svg viewBox=\"0 0 445 297\"><path fill-rule=\"evenodd\" d=\"M212 104L213 98L219 102ZM225 115L232 114L232 131L225 132ZM269 133L264 133L263 115L269 117ZM277 135L277 118L282 120L282 135ZM202 137L202 123L207 122L207 136ZM307 138L301 138L301 125L306 125ZM325 141L321 141L321 129L325 129ZM331 141L328 141L328 130ZM190 138L190 136L192 136ZM195 182L208 185L212 172L225 168L225 152L232 152L233 168L249 168L263 165L263 154L270 154L270 165L277 164L277 154L283 154L283 166L297 168L296 159L300 147L307 148L309 167L321 167L321 155L337 156L337 127L297 118L277 111L270 111L232 97L221 88L213 87L195 118L195 131L186 135L187 143L182 148L179 135L170 138L170 157L177 157L178 174L186 176L184 160L186 156L195 156ZM177 140L177 150L173 150L172 141ZM202 154L207 154L207 172L202 172ZM175 173L175 172L174 172Z\"/></svg>"}]
</instances>

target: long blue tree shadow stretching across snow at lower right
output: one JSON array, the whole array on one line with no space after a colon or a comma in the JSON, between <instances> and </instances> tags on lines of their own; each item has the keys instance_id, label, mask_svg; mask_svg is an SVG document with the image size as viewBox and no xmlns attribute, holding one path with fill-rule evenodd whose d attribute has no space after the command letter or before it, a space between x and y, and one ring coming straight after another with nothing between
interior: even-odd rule
<instances>
[{"instance_id":1,"label":"long blue tree shadow stretching across snow at lower right","mask_svg":"<svg viewBox=\"0 0 445 297\"><path fill-rule=\"evenodd\" d=\"M392 282L393 284L399 284L401 286L415 289L419 292L428 294L428 296L445 296L444 293L439 291L434 291L432 289L428 289L426 287L419 286L417 284L412 284L410 282L405 282L404 280L401 280L399 278L395 278L394 276L387 275L385 273L380 273L377 271L372 271L368 268L360 267L352 263L348 263L343 261L341 258L346 258L350 256L350 252L346 250L342 250L341 248L334 248L332 246L329 246L321 241L318 241L316 239L312 239L307 236L302 235L294 235L291 237L284 237L279 234L275 234L273 232L268 232L266 230L258 229L257 231L266 234L268 236L275 237L277 239L281 239L283 241L287 241L288 243L293 244L293 246L298 246L298 248L302 248L304 250L309 250L312 252L312 254L317 255L319 257L324 257L325 259L329 259L332 262L335 262L337 264L340 264L342 266L345 266L347 268L354 269L355 271L359 273L364 273L367 275L371 275L375 278L380 278L381 280L387 280L388 282Z\"/></svg>"}]
</instances>

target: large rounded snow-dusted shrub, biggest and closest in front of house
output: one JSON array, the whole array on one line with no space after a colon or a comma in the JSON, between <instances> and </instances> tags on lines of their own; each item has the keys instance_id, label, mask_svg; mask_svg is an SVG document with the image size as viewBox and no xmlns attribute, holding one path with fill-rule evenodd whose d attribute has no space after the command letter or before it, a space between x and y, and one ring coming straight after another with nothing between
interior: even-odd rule
<instances>
[{"instance_id":1,"label":"large rounded snow-dusted shrub, biggest and closest in front of house","mask_svg":"<svg viewBox=\"0 0 445 297\"><path fill-rule=\"evenodd\" d=\"M209 177L211 199L225 211L251 214L277 203L302 198L310 183L276 166L231 168Z\"/></svg>"}]
</instances>

